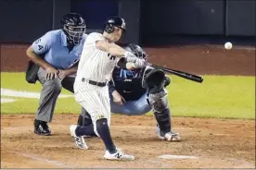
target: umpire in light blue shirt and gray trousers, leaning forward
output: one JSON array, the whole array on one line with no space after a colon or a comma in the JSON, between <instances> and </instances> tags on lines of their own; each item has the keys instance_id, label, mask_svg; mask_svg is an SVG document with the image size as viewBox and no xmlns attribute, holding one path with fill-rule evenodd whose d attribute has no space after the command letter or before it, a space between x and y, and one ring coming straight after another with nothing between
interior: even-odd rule
<instances>
[{"instance_id":1,"label":"umpire in light blue shirt and gray trousers, leaning forward","mask_svg":"<svg viewBox=\"0 0 256 170\"><path fill-rule=\"evenodd\" d=\"M73 92L77 64L85 41L85 22L80 14L69 13L61 19L61 30L51 30L27 49L31 59L26 79L43 85L34 119L34 133L51 135L47 123L52 121L58 95L63 88ZM84 111L84 110L83 110Z\"/></svg>"}]
</instances>

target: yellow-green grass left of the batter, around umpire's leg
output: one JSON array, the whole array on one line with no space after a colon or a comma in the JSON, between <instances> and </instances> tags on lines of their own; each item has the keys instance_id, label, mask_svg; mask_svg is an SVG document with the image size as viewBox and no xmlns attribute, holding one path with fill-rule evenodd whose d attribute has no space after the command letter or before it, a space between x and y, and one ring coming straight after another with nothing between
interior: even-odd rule
<instances>
[{"instance_id":1,"label":"yellow-green grass left of the batter, around umpire's leg","mask_svg":"<svg viewBox=\"0 0 256 170\"><path fill-rule=\"evenodd\" d=\"M32 91L40 92L42 85L37 81L36 84L27 83L24 73L1 73L1 88L17 90L17 91ZM70 91L62 89L62 94L72 94ZM2 96L1 96L2 98ZM6 97L13 98L13 97ZM38 107L37 99L16 98L15 103L1 103L2 114L24 114L35 113ZM79 113L81 107L75 102L73 97L59 98L56 104L55 113Z\"/></svg>"}]
</instances>

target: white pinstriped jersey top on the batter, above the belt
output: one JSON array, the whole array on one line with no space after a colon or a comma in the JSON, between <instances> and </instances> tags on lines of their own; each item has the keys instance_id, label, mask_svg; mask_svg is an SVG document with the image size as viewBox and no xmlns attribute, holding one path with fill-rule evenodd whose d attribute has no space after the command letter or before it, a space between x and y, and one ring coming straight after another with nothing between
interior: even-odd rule
<instances>
[{"instance_id":1,"label":"white pinstriped jersey top on the batter, above the belt","mask_svg":"<svg viewBox=\"0 0 256 170\"><path fill-rule=\"evenodd\" d=\"M101 33L90 33L83 44L83 52L78 65L76 79L91 79L106 82L118 62L118 57L96 48L97 41L106 41Z\"/></svg>"}]
</instances>

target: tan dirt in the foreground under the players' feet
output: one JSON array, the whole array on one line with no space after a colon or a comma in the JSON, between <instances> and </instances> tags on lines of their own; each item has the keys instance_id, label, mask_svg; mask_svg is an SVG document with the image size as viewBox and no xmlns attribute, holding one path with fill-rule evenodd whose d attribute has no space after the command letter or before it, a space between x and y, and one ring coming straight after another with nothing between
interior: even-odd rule
<instances>
[{"instance_id":1,"label":"tan dirt in the foreground under the players' feet","mask_svg":"<svg viewBox=\"0 0 256 170\"><path fill-rule=\"evenodd\" d=\"M151 116L115 115L111 133L117 146L137 158L133 162L103 159L98 138L85 139L89 150L76 147L69 126L77 115L57 115L50 124L53 136L33 134L33 115L4 115L1 126L3 168L253 168L255 133L252 120L173 117L173 129L183 140L159 140ZM163 160L163 154L195 156Z\"/></svg>"}]
</instances>

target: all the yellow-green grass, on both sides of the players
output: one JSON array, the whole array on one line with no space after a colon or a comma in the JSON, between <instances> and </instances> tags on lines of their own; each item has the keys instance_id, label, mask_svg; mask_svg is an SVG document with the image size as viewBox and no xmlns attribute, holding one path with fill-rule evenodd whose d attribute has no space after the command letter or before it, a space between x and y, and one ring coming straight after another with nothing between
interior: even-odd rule
<instances>
[{"instance_id":1,"label":"all the yellow-green grass, on both sides of the players","mask_svg":"<svg viewBox=\"0 0 256 170\"><path fill-rule=\"evenodd\" d=\"M28 84L24 73L1 73L1 88L41 91L41 84ZM255 119L255 77L204 76L202 84L172 76L169 103L174 116ZM71 94L63 90L64 94ZM8 97L10 98L10 97ZM2 114L34 113L37 99L1 103ZM56 113L80 112L74 98L58 99Z\"/></svg>"}]
</instances>

